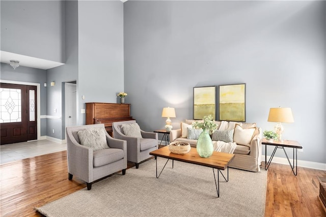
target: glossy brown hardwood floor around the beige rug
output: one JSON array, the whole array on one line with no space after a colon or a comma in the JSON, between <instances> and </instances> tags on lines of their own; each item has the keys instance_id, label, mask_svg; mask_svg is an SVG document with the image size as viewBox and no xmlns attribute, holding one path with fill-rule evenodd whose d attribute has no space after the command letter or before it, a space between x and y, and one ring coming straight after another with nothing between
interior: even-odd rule
<instances>
[{"instance_id":1,"label":"glossy brown hardwood floor around the beige rug","mask_svg":"<svg viewBox=\"0 0 326 217\"><path fill-rule=\"evenodd\" d=\"M33 207L86 187L75 177L68 180L66 151L10 162L0 169L1 216L42 216ZM267 176L265 216L326 216L317 179L326 177L326 171L298 168L294 176L289 165L272 163Z\"/></svg>"}]
</instances>

